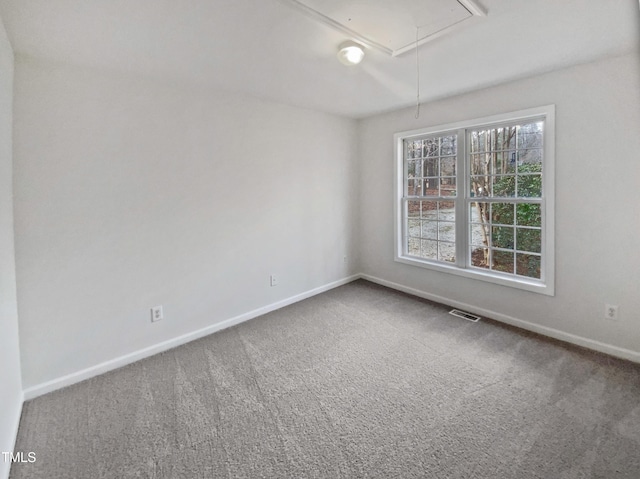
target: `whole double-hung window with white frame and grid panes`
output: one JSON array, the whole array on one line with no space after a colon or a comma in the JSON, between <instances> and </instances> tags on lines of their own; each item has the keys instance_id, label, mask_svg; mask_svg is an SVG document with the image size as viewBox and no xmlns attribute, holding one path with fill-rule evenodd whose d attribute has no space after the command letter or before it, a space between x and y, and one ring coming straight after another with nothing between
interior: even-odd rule
<instances>
[{"instance_id":1,"label":"whole double-hung window with white frame and grid panes","mask_svg":"<svg viewBox=\"0 0 640 479\"><path fill-rule=\"evenodd\" d=\"M396 260L553 295L554 110L396 134Z\"/></svg>"}]
</instances>

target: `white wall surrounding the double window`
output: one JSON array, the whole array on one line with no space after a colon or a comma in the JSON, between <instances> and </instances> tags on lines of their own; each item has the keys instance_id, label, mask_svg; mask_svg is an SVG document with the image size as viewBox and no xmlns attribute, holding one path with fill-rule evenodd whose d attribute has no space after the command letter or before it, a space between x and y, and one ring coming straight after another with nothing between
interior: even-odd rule
<instances>
[{"instance_id":1,"label":"white wall surrounding the double window","mask_svg":"<svg viewBox=\"0 0 640 479\"><path fill-rule=\"evenodd\" d=\"M418 120L406 109L361 121L362 272L640 361L639 57L426 104ZM393 134L547 104L556 105L555 297L394 262ZM620 321L603 319L605 303L620 306Z\"/></svg>"}]
</instances>

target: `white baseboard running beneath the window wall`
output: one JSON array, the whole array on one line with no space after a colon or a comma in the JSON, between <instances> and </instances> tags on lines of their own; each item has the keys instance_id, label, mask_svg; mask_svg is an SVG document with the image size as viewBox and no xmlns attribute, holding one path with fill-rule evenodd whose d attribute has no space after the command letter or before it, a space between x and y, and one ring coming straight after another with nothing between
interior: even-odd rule
<instances>
[{"instance_id":1,"label":"white baseboard running beneath the window wall","mask_svg":"<svg viewBox=\"0 0 640 479\"><path fill-rule=\"evenodd\" d=\"M410 288L408 286L394 283L392 281L387 281L385 279L377 278L375 276L370 276L368 274L360 274L360 277L362 279L366 279L367 281L371 281L372 283L376 283L391 289L402 291L404 293L408 293L413 296L418 296L420 298L428 299L436 303L446 304L447 306L463 309L465 311L469 311L470 313L475 313L480 316L484 316L486 318L495 319L496 321L510 324L512 326L517 326L518 328L526 329L527 331L538 333L543 336L549 336L550 338L575 344L577 346L582 346L584 348L593 349L595 351L599 351L601 353L605 353L610 356L615 356L617 358L626 359L628 361L633 361L635 363L640 363L640 352L638 351L619 348L617 346L613 346L607 343L602 343L594 339L584 338L582 336L566 333L558 329L549 328L547 326L541 326L535 323L530 323L529 321L524 321L522 319L514 318L513 316L496 313L495 311L490 311L488 309L478 308L477 306L473 306L471 304L463 303L461 301L455 301L449 298L445 298L444 296L438 296L436 294L426 293L424 291L420 291L415 288Z\"/></svg>"}]
</instances>

